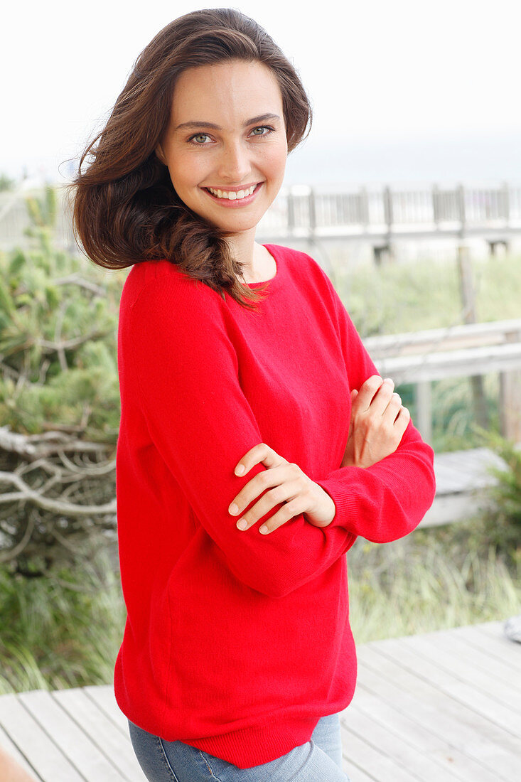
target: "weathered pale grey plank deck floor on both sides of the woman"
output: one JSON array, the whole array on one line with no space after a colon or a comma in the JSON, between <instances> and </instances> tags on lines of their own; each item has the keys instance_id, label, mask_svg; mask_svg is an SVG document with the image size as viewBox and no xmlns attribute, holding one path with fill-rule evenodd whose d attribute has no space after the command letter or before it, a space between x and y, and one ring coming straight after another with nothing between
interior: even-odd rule
<instances>
[{"instance_id":1,"label":"weathered pale grey plank deck floor on both sides of the woman","mask_svg":"<svg viewBox=\"0 0 521 782\"><path fill-rule=\"evenodd\" d=\"M503 622L358 647L341 715L351 782L513 782L521 644ZM112 687L0 696L0 745L40 782L144 782Z\"/></svg>"}]
</instances>

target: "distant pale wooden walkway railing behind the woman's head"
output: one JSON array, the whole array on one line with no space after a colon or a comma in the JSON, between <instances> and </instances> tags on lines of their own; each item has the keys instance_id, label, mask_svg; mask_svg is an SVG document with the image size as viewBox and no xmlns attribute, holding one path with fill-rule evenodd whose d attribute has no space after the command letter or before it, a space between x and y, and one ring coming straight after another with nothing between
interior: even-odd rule
<instances>
[{"instance_id":1,"label":"distant pale wooden walkway railing behind the woman's head","mask_svg":"<svg viewBox=\"0 0 521 782\"><path fill-rule=\"evenodd\" d=\"M75 252L70 216L58 191L56 239ZM25 242L29 224L24 193L0 193L0 248ZM480 236L505 244L521 233L521 184L499 185L284 185L261 219L257 241L358 239L372 242L375 256L393 239Z\"/></svg>"}]
</instances>

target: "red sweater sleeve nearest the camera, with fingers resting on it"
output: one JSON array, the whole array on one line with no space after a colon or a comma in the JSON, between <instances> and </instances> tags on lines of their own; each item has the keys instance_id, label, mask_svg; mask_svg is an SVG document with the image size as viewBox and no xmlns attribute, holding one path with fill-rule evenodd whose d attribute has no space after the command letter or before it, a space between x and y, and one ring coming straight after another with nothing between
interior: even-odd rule
<instances>
[{"instance_id":1,"label":"red sweater sleeve nearest the camera, with fingers resting on it","mask_svg":"<svg viewBox=\"0 0 521 782\"><path fill-rule=\"evenodd\" d=\"M127 337L149 436L237 579L284 597L346 553L356 535L343 524L319 528L300 514L264 536L259 527L282 504L246 531L228 512L243 486L266 468L234 472L264 440L239 382L216 292L168 275L147 282L132 307Z\"/></svg>"}]
</instances>

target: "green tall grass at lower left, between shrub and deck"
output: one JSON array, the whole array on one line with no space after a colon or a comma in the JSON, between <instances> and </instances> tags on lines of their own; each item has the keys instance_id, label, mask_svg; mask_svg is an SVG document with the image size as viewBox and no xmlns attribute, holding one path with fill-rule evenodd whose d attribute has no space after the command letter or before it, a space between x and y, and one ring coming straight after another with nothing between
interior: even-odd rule
<instances>
[{"instance_id":1,"label":"green tall grass at lower left, between shrub and deck","mask_svg":"<svg viewBox=\"0 0 521 782\"><path fill-rule=\"evenodd\" d=\"M0 569L0 693L110 683L125 615L106 549L49 578Z\"/></svg>"}]
</instances>

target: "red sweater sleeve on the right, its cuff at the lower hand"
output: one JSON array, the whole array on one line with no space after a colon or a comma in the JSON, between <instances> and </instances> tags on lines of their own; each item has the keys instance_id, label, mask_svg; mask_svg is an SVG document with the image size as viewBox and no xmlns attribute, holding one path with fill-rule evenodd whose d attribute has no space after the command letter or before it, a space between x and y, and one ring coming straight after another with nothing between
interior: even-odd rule
<instances>
[{"instance_id":1,"label":"red sweater sleeve on the right, its cuff at the lower hand","mask_svg":"<svg viewBox=\"0 0 521 782\"><path fill-rule=\"evenodd\" d=\"M325 274L325 273L324 273ZM340 328L350 389L379 375L360 335L328 278ZM410 533L433 504L436 481L433 449L409 421L397 450L368 468L344 467L315 482L332 497L333 522L356 535L386 543Z\"/></svg>"}]
</instances>

